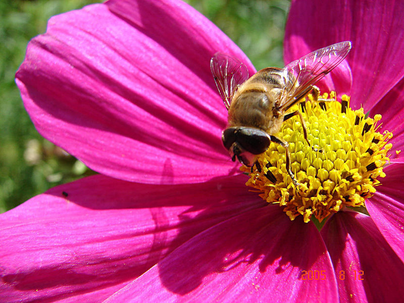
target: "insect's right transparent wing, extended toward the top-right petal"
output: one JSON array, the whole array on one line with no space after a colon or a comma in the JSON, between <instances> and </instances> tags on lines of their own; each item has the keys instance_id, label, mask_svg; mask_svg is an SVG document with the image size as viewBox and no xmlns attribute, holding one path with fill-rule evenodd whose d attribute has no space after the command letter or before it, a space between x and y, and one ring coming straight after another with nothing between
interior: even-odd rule
<instances>
[{"instance_id":1,"label":"insect's right transparent wing, extended toward the top-right petal","mask_svg":"<svg viewBox=\"0 0 404 303\"><path fill-rule=\"evenodd\" d=\"M312 89L312 85L344 60L350 48L350 41L339 42L320 48L285 66L281 70L286 87L281 109L287 110L304 97Z\"/></svg>"}]
</instances>

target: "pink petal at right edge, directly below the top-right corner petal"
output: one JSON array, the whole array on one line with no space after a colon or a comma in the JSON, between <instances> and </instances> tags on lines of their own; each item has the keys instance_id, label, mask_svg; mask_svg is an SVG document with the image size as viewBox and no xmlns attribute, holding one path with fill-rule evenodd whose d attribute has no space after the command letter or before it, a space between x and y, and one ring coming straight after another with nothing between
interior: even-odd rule
<instances>
[{"instance_id":1,"label":"pink petal at right edge, directly below the top-right corner petal","mask_svg":"<svg viewBox=\"0 0 404 303\"><path fill-rule=\"evenodd\" d=\"M404 153L404 78L400 80L370 111L370 116L382 114L379 131L388 130L393 133L389 143L393 144L390 162L403 163ZM402 178L402 177L401 177Z\"/></svg>"}]
</instances>

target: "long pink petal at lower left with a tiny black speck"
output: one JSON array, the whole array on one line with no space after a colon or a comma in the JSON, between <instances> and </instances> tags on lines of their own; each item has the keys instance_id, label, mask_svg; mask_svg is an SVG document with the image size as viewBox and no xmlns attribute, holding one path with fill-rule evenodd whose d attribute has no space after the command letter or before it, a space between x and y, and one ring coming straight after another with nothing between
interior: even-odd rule
<instances>
[{"instance_id":1,"label":"long pink petal at lower left with a tiny black speck","mask_svg":"<svg viewBox=\"0 0 404 303\"><path fill-rule=\"evenodd\" d=\"M145 185L102 175L0 216L4 301L101 301L195 234L266 205L244 176Z\"/></svg>"}]
</instances>

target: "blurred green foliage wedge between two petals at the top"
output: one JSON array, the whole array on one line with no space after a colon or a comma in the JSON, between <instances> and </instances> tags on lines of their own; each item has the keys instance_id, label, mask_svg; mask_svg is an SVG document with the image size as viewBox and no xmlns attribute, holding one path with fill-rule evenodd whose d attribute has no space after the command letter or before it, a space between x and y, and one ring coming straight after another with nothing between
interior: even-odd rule
<instances>
[{"instance_id":1,"label":"blurred green foliage wedge between two petals at the top","mask_svg":"<svg viewBox=\"0 0 404 303\"><path fill-rule=\"evenodd\" d=\"M283 67L288 0L185 0L244 51L257 70Z\"/></svg>"}]
</instances>

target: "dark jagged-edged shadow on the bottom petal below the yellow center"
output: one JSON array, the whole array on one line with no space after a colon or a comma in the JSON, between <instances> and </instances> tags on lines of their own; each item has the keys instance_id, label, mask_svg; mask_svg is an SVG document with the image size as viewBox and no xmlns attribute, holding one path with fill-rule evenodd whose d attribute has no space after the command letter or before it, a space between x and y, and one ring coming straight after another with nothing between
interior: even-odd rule
<instances>
[{"instance_id":1,"label":"dark jagged-edged shadow on the bottom petal below the yellow center","mask_svg":"<svg viewBox=\"0 0 404 303\"><path fill-rule=\"evenodd\" d=\"M158 264L160 279L169 291L180 295L192 292L214 273L237 272L241 267L242 274L248 275L248 267L252 272L257 263L261 274L286 271L300 279L301 270L310 269L327 254L314 229L302 220L290 221L278 205L250 210L174 250Z\"/></svg>"}]
</instances>

